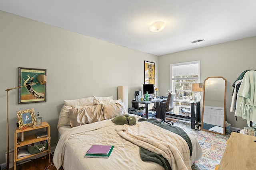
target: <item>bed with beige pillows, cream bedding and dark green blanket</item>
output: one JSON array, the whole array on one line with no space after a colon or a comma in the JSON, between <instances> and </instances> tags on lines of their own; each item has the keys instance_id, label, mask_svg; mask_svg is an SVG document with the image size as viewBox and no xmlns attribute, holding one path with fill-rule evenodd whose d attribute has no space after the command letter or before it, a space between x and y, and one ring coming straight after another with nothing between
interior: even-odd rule
<instances>
[{"instance_id":1,"label":"bed with beige pillows, cream bedding and dark green blanket","mask_svg":"<svg viewBox=\"0 0 256 170\"><path fill-rule=\"evenodd\" d=\"M64 170L180 170L191 169L202 157L196 139L178 127L138 115L132 115L136 125L112 122L114 116L126 113L124 104L113 96L64 101L54 166ZM84 157L92 145L114 145L114 149L109 158Z\"/></svg>"}]
</instances>

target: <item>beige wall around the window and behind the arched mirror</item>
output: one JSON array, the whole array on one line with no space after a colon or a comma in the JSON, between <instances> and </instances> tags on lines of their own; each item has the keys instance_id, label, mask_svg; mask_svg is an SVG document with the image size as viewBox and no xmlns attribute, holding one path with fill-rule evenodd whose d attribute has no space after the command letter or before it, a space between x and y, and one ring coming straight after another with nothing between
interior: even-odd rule
<instances>
[{"instance_id":1,"label":"beige wall around the window and behind the arched mirror","mask_svg":"<svg viewBox=\"0 0 256 170\"><path fill-rule=\"evenodd\" d=\"M207 40L206 40L207 41ZM207 77L222 76L227 80L226 108L227 121L232 127L247 126L246 120L234 117L230 112L232 84L245 70L256 69L256 37L240 39L228 43L172 53L159 57L159 92L166 94L170 89L170 64L187 61L201 61L201 82ZM201 94L203 96L203 93ZM202 106L202 102L201 102Z\"/></svg>"}]
</instances>

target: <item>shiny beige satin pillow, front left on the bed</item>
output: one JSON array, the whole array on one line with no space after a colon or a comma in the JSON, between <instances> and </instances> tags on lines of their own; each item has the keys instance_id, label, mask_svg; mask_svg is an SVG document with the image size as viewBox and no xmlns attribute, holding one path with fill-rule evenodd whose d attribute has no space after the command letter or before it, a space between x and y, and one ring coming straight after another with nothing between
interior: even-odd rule
<instances>
[{"instance_id":1,"label":"shiny beige satin pillow, front left on the bed","mask_svg":"<svg viewBox=\"0 0 256 170\"><path fill-rule=\"evenodd\" d=\"M71 127L94 123L104 120L102 113L103 104L95 106L76 106L69 110L69 121Z\"/></svg>"}]
</instances>

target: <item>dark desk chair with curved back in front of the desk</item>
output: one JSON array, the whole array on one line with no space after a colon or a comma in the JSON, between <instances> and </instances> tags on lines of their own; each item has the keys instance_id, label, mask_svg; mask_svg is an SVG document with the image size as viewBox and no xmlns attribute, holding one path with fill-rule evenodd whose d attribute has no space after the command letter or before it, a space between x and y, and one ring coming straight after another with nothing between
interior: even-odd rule
<instances>
[{"instance_id":1,"label":"dark desk chair with curved back in front of the desk","mask_svg":"<svg viewBox=\"0 0 256 170\"><path fill-rule=\"evenodd\" d=\"M172 121L166 120L166 112L171 111L174 108L174 97L175 93L168 93L166 102L156 102L156 118L159 121L165 123L172 123ZM170 123L169 123L170 122Z\"/></svg>"}]
</instances>

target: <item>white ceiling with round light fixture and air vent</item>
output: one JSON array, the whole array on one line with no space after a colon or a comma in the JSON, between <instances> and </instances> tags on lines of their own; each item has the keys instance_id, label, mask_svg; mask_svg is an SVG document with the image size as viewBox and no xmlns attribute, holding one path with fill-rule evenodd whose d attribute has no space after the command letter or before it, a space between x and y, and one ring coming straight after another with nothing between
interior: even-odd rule
<instances>
[{"instance_id":1,"label":"white ceiling with round light fixture and air vent","mask_svg":"<svg viewBox=\"0 0 256 170\"><path fill-rule=\"evenodd\" d=\"M0 10L158 56L256 36L256 0L1 0ZM155 21L163 31L150 32Z\"/></svg>"}]
</instances>

